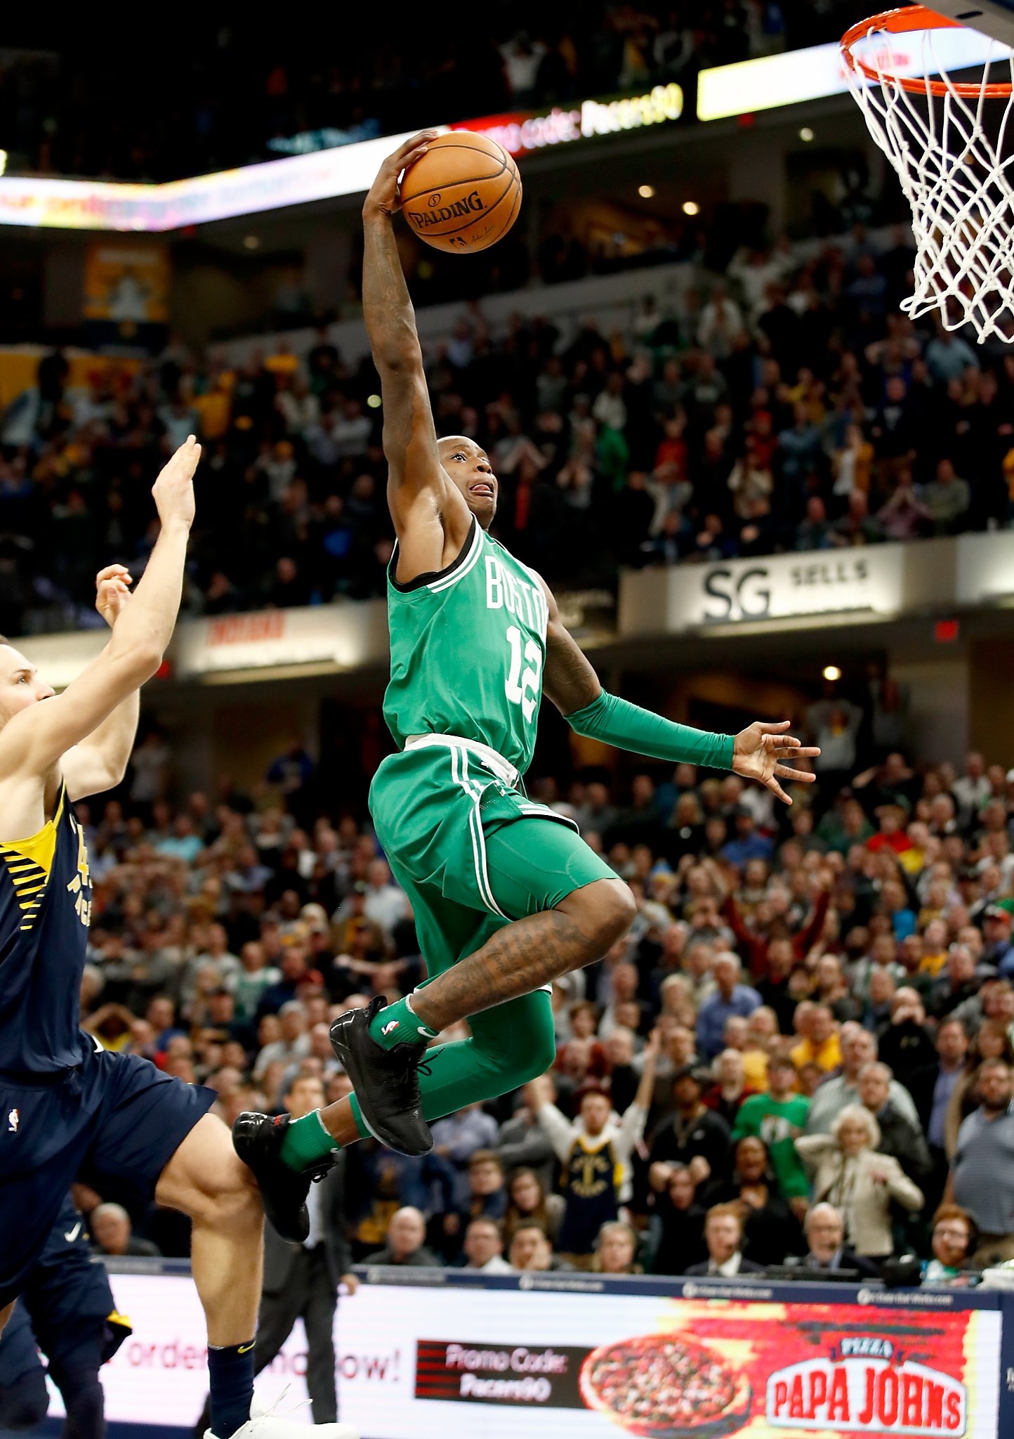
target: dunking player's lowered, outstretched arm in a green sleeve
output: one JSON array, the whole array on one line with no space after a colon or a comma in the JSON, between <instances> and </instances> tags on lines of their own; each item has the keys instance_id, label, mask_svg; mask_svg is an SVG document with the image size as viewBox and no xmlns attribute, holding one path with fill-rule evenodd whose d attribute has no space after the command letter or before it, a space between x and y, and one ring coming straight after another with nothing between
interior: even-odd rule
<instances>
[{"instance_id":1,"label":"dunking player's lowered, outstretched arm in a green sleeve","mask_svg":"<svg viewBox=\"0 0 1014 1439\"><path fill-rule=\"evenodd\" d=\"M598 684L598 676L577 640L567 632L552 590L545 581L542 590L549 606L542 691L577 734L672 764L734 770L744 778L767 784L785 804L793 802L780 780L813 783L814 774L784 763L820 754L814 745L803 745L791 734L785 734L788 720L777 724L755 720L735 735L711 734L675 724L620 699L618 695L610 695Z\"/></svg>"}]
</instances>

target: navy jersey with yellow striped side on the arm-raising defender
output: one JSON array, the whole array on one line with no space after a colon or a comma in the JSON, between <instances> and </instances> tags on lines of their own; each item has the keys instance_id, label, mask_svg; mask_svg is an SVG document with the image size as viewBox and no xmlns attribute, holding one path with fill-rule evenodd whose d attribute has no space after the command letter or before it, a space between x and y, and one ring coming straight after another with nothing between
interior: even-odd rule
<instances>
[{"instance_id":1,"label":"navy jersey with yellow striped side on the arm-raising defender","mask_svg":"<svg viewBox=\"0 0 1014 1439\"><path fill-rule=\"evenodd\" d=\"M79 1027L92 882L60 786L30 839L0 842L0 1072L59 1073L95 1045Z\"/></svg>"}]
</instances>

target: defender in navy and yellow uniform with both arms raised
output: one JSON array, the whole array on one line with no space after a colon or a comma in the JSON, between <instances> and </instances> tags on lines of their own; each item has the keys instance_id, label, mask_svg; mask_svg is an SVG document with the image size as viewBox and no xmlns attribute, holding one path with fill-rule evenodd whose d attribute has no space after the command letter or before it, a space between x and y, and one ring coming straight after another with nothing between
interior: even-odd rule
<instances>
[{"instance_id":1,"label":"defender in navy and yellow uniform with both arms raised","mask_svg":"<svg viewBox=\"0 0 1014 1439\"><path fill-rule=\"evenodd\" d=\"M193 1220L210 1433L296 1439L303 1426L253 1399L263 1213L229 1130L207 1112L214 1094L140 1056L96 1052L78 1023L92 886L73 800L127 770L138 689L161 665L180 607L198 458L190 436L154 485L161 532L135 593L122 566L98 576L112 637L60 695L0 643L0 1328L72 1180L154 1197Z\"/></svg>"}]
</instances>

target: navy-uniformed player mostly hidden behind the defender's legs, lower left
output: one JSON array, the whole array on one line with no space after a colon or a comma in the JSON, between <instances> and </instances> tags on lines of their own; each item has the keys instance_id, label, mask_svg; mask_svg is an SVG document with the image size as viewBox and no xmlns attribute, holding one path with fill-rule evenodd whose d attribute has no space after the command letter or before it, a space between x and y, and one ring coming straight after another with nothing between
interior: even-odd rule
<instances>
[{"instance_id":1,"label":"navy-uniformed player mostly hidden behind the defender's legs, lower left","mask_svg":"<svg viewBox=\"0 0 1014 1439\"><path fill-rule=\"evenodd\" d=\"M68 1197L0 1335L0 1429L30 1429L46 1417L42 1348L66 1409L63 1439L102 1439L99 1368L129 1333L105 1265L92 1256L85 1222Z\"/></svg>"}]
</instances>

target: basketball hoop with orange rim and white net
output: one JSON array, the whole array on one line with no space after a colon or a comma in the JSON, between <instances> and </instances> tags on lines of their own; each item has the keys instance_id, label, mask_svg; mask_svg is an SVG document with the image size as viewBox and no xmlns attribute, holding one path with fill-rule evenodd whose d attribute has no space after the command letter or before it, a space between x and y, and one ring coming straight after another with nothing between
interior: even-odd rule
<instances>
[{"instance_id":1,"label":"basketball hoop with orange rim and white net","mask_svg":"<svg viewBox=\"0 0 1014 1439\"><path fill-rule=\"evenodd\" d=\"M971 324L979 344L1013 344L1014 53L913 4L854 24L841 56L912 207L915 292L902 309L939 311L945 330ZM972 65L977 81L948 75Z\"/></svg>"}]
</instances>

